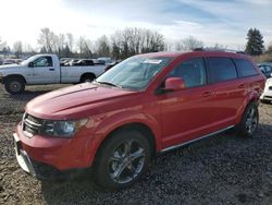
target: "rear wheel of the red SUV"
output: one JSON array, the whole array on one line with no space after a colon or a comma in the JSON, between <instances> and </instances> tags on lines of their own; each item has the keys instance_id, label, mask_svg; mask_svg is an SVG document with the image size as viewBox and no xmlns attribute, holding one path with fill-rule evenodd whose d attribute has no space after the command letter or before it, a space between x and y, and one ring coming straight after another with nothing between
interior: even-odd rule
<instances>
[{"instance_id":1,"label":"rear wheel of the red SUV","mask_svg":"<svg viewBox=\"0 0 272 205\"><path fill-rule=\"evenodd\" d=\"M246 137L251 137L259 123L258 106L255 102L250 102L243 114L242 121L238 125L238 134Z\"/></svg>"}]
</instances>

